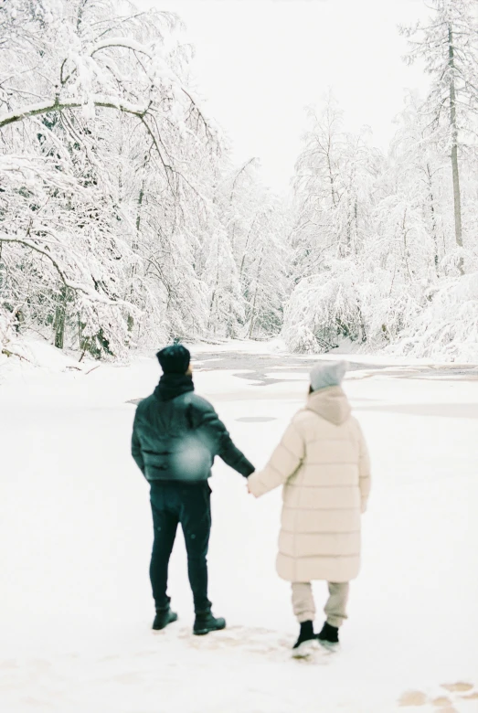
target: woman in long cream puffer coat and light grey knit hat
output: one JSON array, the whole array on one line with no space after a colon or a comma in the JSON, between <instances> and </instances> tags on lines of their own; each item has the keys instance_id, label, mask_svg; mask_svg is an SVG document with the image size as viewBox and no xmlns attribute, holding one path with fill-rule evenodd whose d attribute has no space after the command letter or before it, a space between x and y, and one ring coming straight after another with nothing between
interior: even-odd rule
<instances>
[{"instance_id":1,"label":"woman in long cream puffer coat and light grey knit hat","mask_svg":"<svg viewBox=\"0 0 478 713\"><path fill-rule=\"evenodd\" d=\"M349 581L360 568L360 516L370 492L366 442L341 388L345 362L323 361L311 371L298 411L263 471L250 475L252 495L283 488L277 570L292 582L293 612L301 625L294 655L317 640L337 644L346 619ZM313 633L312 580L326 580L329 600L321 633Z\"/></svg>"}]
</instances>

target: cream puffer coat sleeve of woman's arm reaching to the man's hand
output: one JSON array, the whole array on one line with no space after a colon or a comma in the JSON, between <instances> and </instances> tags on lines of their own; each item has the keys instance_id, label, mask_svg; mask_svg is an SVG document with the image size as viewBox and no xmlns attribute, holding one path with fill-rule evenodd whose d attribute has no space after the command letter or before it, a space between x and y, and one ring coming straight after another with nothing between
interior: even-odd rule
<instances>
[{"instance_id":1,"label":"cream puffer coat sleeve of woman's arm reaching to the man's hand","mask_svg":"<svg viewBox=\"0 0 478 713\"><path fill-rule=\"evenodd\" d=\"M266 467L250 475L248 484L252 495L260 497L286 483L301 466L304 455L303 435L292 420Z\"/></svg>"}]
</instances>

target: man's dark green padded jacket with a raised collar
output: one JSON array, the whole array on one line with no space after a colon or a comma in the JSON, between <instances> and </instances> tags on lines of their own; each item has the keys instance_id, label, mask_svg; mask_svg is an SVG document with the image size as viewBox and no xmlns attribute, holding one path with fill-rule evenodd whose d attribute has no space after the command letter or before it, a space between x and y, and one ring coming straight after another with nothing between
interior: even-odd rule
<instances>
[{"instance_id":1,"label":"man's dark green padded jacket with a raised collar","mask_svg":"<svg viewBox=\"0 0 478 713\"><path fill-rule=\"evenodd\" d=\"M132 454L146 480L205 481L217 455L249 476L254 466L231 441L211 404L193 389L192 378L167 375L138 404Z\"/></svg>"}]
</instances>

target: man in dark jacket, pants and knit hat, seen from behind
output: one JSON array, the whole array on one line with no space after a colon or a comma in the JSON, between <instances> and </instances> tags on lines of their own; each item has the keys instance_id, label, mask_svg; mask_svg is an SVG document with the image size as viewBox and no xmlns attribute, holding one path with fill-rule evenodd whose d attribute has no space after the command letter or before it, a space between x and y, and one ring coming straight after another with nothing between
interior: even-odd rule
<instances>
[{"instance_id":1,"label":"man in dark jacket, pants and knit hat, seen from behind","mask_svg":"<svg viewBox=\"0 0 478 713\"><path fill-rule=\"evenodd\" d=\"M178 525L183 528L187 571L194 596L197 635L224 629L207 598L207 548L211 489L207 479L215 456L248 477L254 466L231 441L206 399L194 393L191 355L182 345L156 355L163 376L152 396L141 401L133 424L132 454L151 484L154 545L150 577L156 606L155 630L177 619L167 596L167 570Z\"/></svg>"}]
</instances>

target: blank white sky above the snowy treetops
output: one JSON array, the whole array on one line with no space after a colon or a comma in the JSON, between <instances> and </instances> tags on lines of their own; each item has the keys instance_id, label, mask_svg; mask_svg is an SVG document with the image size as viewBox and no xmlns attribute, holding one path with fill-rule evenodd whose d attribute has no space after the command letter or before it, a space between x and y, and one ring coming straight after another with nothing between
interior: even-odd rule
<instances>
[{"instance_id":1,"label":"blank white sky above the snowy treetops","mask_svg":"<svg viewBox=\"0 0 478 713\"><path fill-rule=\"evenodd\" d=\"M234 144L235 159L259 156L263 178L288 186L306 127L304 107L328 87L345 128L367 124L386 149L407 88L426 87L402 60L397 25L430 14L422 0L136 0L177 13L195 45L207 112Z\"/></svg>"}]
</instances>

